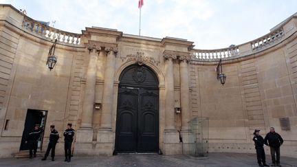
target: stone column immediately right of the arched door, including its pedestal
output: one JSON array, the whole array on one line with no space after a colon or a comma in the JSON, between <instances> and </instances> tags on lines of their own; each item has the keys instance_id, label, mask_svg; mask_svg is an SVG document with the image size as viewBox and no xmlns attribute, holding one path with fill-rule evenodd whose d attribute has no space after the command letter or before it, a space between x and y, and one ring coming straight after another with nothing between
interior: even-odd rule
<instances>
[{"instance_id":1,"label":"stone column immediately right of the arched door, including its pedestal","mask_svg":"<svg viewBox=\"0 0 297 167\"><path fill-rule=\"evenodd\" d=\"M175 126L173 59L176 56L164 55L165 58L165 129L163 152L165 155L181 154L179 133Z\"/></svg>"}]
</instances>

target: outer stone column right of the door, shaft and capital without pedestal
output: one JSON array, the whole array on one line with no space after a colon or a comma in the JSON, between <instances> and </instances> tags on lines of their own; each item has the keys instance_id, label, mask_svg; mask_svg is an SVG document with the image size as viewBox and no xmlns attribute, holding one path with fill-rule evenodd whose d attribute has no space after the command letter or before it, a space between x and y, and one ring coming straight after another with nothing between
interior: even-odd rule
<instances>
[{"instance_id":1,"label":"outer stone column right of the door, shaft and capital without pedestal","mask_svg":"<svg viewBox=\"0 0 297 167\"><path fill-rule=\"evenodd\" d=\"M188 83L188 58L180 57L179 80L180 80L180 99L181 99L181 131L189 129L190 121L190 89Z\"/></svg>"}]
</instances>

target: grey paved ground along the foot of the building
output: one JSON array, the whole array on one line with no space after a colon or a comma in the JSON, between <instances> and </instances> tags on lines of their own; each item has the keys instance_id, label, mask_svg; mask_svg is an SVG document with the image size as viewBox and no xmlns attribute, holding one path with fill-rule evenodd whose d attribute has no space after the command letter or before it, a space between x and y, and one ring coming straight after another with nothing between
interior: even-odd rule
<instances>
[{"instance_id":1,"label":"grey paved ground along the foot of the building","mask_svg":"<svg viewBox=\"0 0 297 167\"><path fill-rule=\"evenodd\" d=\"M256 155L236 153L210 153L208 158L195 158L186 155L115 155L113 157L73 157L72 162L63 162L63 157L56 157L52 162L34 159L0 159L0 166L153 166L153 167L191 167L191 166L258 166ZM267 157L267 164L271 159ZM281 157L282 166L297 166L297 157Z\"/></svg>"}]
</instances>

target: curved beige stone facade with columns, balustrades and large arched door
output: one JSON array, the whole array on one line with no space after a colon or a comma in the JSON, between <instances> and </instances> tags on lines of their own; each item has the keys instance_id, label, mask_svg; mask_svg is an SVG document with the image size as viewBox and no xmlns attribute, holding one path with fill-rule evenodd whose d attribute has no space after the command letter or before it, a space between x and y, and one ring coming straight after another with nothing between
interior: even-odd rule
<instances>
[{"instance_id":1,"label":"curved beige stone facade with columns, balustrades and large arched door","mask_svg":"<svg viewBox=\"0 0 297 167\"><path fill-rule=\"evenodd\" d=\"M285 140L282 155L297 153L296 15L254 41L203 50L180 38L100 27L74 34L12 5L0 8L0 157L25 150L25 127L36 120L45 126L42 151L51 124L62 135L72 123L76 155L186 154L196 117L209 118L210 153L254 153L254 129L265 135L270 126ZM225 85L217 80L219 59Z\"/></svg>"}]
</instances>

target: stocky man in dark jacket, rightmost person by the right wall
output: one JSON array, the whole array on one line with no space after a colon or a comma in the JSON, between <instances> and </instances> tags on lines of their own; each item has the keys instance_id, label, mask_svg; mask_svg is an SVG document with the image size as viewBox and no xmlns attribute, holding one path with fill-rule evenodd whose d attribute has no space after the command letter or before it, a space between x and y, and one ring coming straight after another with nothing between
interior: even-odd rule
<instances>
[{"instance_id":1,"label":"stocky man in dark jacket, rightmost person by the right wall","mask_svg":"<svg viewBox=\"0 0 297 167\"><path fill-rule=\"evenodd\" d=\"M272 156L272 166L280 165L280 147L283 144L283 138L281 135L274 131L274 127L270 128L270 132L265 136L265 143L270 146L270 154ZM268 141L268 143L267 143ZM276 158L275 158L276 155Z\"/></svg>"}]
</instances>

